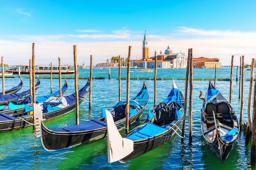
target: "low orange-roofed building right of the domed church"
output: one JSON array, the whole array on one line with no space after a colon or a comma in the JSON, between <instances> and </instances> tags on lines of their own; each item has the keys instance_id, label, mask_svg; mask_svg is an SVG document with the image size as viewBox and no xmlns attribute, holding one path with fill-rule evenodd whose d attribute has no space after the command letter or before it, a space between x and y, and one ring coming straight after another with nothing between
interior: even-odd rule
<instances>
[{"instance_id":1,"label":"low orange-roofed building right of the domed church","mask_svg":"<svg viewBox=\"0 0 256 170\"><path fill-rule=\"evenodd\" d=\"M192 66L194 68L221 68L222 64L218 58L205 58L205 57L199 57L199 58L193 58L192 60Z\"/></svg>"}]
</instances>

